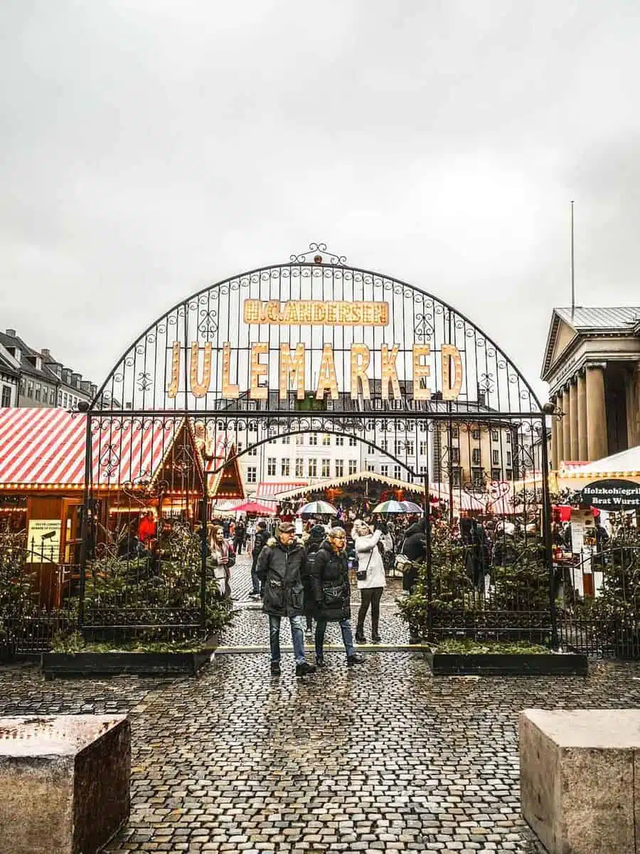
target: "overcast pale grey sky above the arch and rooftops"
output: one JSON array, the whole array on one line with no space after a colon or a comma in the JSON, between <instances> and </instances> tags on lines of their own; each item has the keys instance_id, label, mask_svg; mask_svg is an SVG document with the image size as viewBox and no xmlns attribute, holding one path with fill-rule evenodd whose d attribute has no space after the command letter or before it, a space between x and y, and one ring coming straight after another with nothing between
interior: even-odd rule
<instances>
[{"instance_id":1,"label":"overcast pale grey sky above the arch and rooftops","mask_svg":"<svg viewBox=\"0 0 640 854\"><path fill-rule=\"evenodd\" d=\"M167 307L310 241L538 379L640 304L637 0L3 0L0 325L101 383Z\"/></svg>"}]
</instances>

